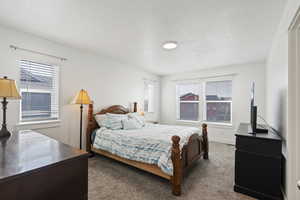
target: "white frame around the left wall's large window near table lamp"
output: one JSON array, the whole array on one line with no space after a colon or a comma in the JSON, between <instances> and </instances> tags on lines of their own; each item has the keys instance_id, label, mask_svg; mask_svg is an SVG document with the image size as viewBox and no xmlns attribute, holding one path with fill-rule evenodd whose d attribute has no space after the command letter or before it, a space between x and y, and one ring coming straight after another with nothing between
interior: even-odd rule
<instances>
[{"instance_id":1,"label":"white frame around the left wall's large window near table lamp","mask_svg":"<svg viewBox=\"0 0 300 200\"><path fill-rule=\"evenodd\" d=\"M26 60L26 59L20 59L18 61L18 67L20 69L20 61L22 60ZM31 59L28 59L28 61L30 62L36 62L36 61L32 61ZM57 99L56 99L56 103L57 103L57 109L58 109L58 112L57 112L57 117L56 118L46 118L46 119L37 119L37 120L23 120L22 119L22 99L21 99L21 102L20 102L20 106L19 106L19 123L18 123L18 126L22 126L22 125L27 125L27 124L48 124L48 123L59 123L60 122L60 69L59 69L59 66L57 66L56 64L49 64L49 63L45 63L45 62L36 62L36 63L42 63L42 64L45 64L45 65L51 65L51 66L54 66L57 68L57 76L56 76L56 83L57 83L57 91L56 91L56 95L57 95ZM50 90L47 90L47 89L24 89L24 88L19 88L19 91L20 91L20 94L22 96L22 92L33 92L33 93L52 93ZM52 106L52 105L51 105ZM52 108L51 108L52 109ZM55 125L56 126L56 125Z\"/></svg>"}]
</instances>

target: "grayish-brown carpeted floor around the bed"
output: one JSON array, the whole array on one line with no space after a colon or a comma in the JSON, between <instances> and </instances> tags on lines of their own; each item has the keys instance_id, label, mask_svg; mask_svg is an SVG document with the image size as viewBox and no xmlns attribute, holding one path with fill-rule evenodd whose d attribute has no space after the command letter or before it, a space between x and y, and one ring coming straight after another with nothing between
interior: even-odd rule
<instances>
[{"instance_id":1,"label":"grayish-brown carpeted floor around the bed","mask_svg":"<svg viewBox=\"0 0 300 200\"><path fill-rule=\"evenodd\" d=\"M89 160L89 200L251 200L233 191L233 180L234 147L219 143L210 144L209 161L200 160L191 169L180 197L162 178L102 156Z\"/></svg>"}]
</instances>

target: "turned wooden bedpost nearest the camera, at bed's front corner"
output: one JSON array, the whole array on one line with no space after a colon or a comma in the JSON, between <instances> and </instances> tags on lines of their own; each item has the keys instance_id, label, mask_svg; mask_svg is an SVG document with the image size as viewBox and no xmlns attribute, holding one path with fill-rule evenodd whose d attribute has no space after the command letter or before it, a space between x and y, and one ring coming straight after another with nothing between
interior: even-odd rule
<instances>
[{"instance_id":1,"label":"turned wooden bedpost nearest the camera, at bed's front corner","mask_svg":"<svg viewBox=\"0 0 300 200\"><path fill-rule=\"evenodd\" d=\"M179 148L180 137L175 135L172 137L172 162L173 162L173 177L172 177L172 192L174 195L181 195L181 179L182 165Z\"/></svg>"}]
</instances>

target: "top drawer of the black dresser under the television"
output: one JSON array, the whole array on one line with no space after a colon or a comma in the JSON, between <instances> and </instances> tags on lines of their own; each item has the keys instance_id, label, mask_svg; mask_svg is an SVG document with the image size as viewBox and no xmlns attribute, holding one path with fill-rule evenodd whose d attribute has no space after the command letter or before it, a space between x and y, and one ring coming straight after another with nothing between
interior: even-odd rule
<instances>
[{"instance_id":1,"label":"top drawer of the black dresser under the television","mask_svg":"<svg viewBox=\"0 0 300 200\"><path fill-rule=\"evenodd\" d=\"M253 139L253 137L236 137L236 148L239 151L262 154L264 156L281 157L281 141Z\"/></svg>"}]
</instances>

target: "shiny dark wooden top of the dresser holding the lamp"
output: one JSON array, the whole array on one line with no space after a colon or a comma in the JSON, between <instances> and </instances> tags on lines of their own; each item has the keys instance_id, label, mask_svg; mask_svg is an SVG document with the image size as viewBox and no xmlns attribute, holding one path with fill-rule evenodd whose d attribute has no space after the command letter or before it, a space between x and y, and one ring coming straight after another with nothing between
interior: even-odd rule
<instances>
[{"instance_id":1,"label":"shiny dark wooden top of the dresser holding the lamp","mask_svg":"<svg viewBox=\"0 0 300 200\"><path fill-rule=\"evenodd\" d=\"M0 182L88 155L37 132L15 132L9 138L0 139Z\"/></svg>"}]
</instances>

